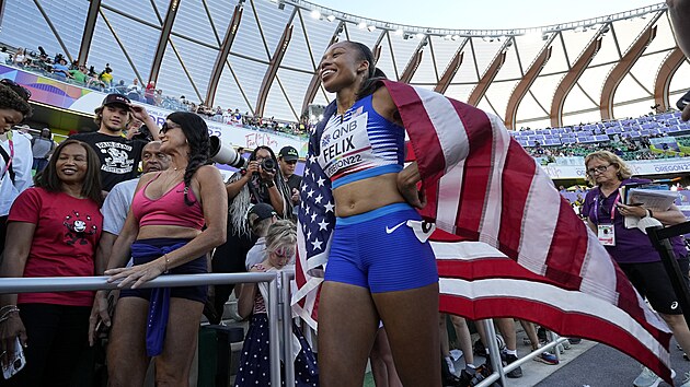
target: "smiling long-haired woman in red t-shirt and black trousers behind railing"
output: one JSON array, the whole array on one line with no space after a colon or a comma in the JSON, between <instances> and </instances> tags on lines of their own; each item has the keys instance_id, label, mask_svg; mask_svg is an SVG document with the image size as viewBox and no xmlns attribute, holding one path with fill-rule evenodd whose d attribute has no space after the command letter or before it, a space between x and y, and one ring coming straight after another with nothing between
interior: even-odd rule
<instances>
[{"instance_id":1,"label":"smiling long-haired woman in red t-shirt and black trousers behind railing","mask_svg":"<svg viewBox=\"0 0 690 387\"><path fill-rule=\"evenodd\" d=\"M0 277L94 275L103 225L100 167L99 156L83 142L66 140L57 146L36 187L22 192L10 209ZM0 361L12 359L18 337L26 356L26 366L10 385L68 386L88 348L92 304L93 292L2 295Z\"/></svg>"}]
</instances>

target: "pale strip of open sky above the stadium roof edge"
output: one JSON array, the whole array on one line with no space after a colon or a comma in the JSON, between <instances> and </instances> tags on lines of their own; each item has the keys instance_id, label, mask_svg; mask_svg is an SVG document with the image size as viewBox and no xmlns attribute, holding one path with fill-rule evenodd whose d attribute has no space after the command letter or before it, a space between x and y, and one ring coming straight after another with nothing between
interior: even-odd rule
<instances>
[{"instance_id":1,"label":"pale strip of open sky above the stadium roof edge","mask_svg":"<svg viewBox=\"0 0 690 387\"><path fill-rule=\"evenodd\" d=\"M436 28L509 30L575 22L662 0L310 0L357 16Z\"/></svg>"}]
</instances>

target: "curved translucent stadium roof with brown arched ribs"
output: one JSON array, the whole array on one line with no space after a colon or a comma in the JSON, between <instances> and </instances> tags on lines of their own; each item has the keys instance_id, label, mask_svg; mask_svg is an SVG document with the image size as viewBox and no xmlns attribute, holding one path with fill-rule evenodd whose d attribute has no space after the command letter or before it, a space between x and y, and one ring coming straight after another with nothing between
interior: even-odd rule
<instances>
[{"instance_id":1,"label":"curved translucent stadium roof with brown arched ribs","mask_svg":"<svg viewBox=\"0 0 690 387\"><path fill-rule=\"evenodd\" d=\"M664 3L516 30L400 25L302 0L7 0L0 42L64 52L168 95L297 120L334 97L326 47L358 40L389 78L544 128L636 117L690 89Z\"/></svg>"}]
</instances>

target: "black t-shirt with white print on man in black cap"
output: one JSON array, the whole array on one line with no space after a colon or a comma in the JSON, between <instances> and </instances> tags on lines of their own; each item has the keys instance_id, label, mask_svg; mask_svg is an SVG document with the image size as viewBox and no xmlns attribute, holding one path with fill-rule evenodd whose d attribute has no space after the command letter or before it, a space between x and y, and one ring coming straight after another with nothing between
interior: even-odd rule
<instances>
[{"instance_id":1,"label":"black t-shirt with white print on man in black cap","mask_svg":"<svg viewBox=\"0 0 690 387\"><path fill-rule=\"evenodd\" d=\"M110 191L116 184L137 177L146 141L99 132L78 133L70 139L88 143L99 155L103 190Z\"/></svg>"}]
</instances>

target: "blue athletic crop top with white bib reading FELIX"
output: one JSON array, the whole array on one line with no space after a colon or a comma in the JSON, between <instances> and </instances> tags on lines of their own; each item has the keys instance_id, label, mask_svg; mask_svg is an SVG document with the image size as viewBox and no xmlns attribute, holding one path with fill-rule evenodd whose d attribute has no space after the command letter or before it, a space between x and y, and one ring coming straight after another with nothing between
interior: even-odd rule
<instances>
[{"instance_id":1,"label":"blue athletic crop top with white bib reading FELIX","mask_svg":"<svg viewBox=\"0 0 690 387\"><path fill-rule=\"evenodd\" d=\"M355 102L342 117L331 116L320 141L319 165L334 189L402 171L405 129L376 113L371 95Z\"/></svg>"}]
</instances>

